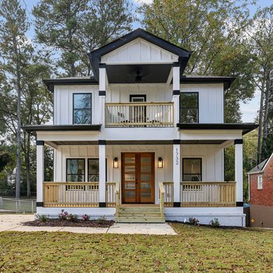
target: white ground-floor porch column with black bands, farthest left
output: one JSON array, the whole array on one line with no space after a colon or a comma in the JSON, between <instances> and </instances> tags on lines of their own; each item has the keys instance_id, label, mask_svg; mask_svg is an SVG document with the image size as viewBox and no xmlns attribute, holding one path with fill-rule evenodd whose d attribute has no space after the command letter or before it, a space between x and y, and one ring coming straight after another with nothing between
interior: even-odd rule
<instances>
[{"instance_id":1,"label":"white ground-floor porch column with black bands, farthest left","mask_svg":"<svg viewBox=\"0 0 273 273\"><path fill-rule=\"evenodd\" d=\"M44 146L44 141L36 140L36 207L43 207Z\"/></svg>"}]
</instances>

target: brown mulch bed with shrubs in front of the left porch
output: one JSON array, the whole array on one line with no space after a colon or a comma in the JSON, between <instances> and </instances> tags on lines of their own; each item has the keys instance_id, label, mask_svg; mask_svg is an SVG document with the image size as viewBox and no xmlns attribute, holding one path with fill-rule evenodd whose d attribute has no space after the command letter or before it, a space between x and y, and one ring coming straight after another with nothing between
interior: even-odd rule
<instances>
[{"instance_id":1,"label":"brown mulch bed with shrubs in front of the left porch","mask_svg":"<svg viewBox=\"0 0 273 273\"><path fill-rule=\"evenodd\" d=\"M23 223L30 227L81 227L81 228L109 228L115 223L107 220L90 221L60 221L59 219L48 219L46 222L40 220L28 221Z\"/></svg>"}]
</instances>

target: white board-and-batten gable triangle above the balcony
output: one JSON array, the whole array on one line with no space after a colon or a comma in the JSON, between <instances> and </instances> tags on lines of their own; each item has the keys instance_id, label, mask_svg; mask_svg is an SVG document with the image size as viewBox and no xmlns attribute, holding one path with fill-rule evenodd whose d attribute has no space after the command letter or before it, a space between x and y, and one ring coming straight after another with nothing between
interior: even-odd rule
<instances>
[{"instance_id":1,"label":"white board-and-batten gable triangle above the balcony","mask_svg":"<svg viewBox=\"0 0 273 273\"><path fill-rule=\"evenodd\" d=\"M143 38L137 38L102 56L105 64L158 64L178 62L179 57Z\"/></svg>"}]
</instances>

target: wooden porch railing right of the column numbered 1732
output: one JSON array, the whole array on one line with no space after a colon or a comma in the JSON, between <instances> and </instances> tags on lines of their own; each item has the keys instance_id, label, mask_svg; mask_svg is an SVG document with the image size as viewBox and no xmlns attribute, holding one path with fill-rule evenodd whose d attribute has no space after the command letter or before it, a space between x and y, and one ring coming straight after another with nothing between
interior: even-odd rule
<instances>
[{"instance_id":1,"label":"wooden porch railing right of the column numbered 1732","mask_svg":"<svg viewBox=\"0 0 273 273\"><path fill-rule=\"evenodd\" d=\"M235 207L236 182L181 182L181 207Z\"/></svg>"}]
</instances>

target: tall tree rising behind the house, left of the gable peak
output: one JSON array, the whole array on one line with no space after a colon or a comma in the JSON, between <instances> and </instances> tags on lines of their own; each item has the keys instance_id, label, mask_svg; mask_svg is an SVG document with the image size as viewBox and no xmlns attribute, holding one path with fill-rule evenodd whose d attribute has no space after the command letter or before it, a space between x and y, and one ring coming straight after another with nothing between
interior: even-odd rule
<instances>
[{"instance_id":1,"label":"tall tree rising behind the house, left of the gable peak","mask_svg":"<svg viewBox=\"0 0 273 273\"><path fill-rule=\"evenodd\" d=\"M57 66L68 76L90 75L87 52L131 29L127 0L42 0L34 7L36 41L59 50Z\"/></svg>"}]
</instances>

